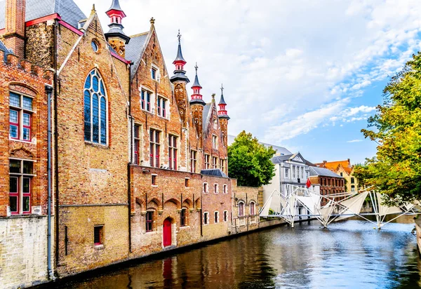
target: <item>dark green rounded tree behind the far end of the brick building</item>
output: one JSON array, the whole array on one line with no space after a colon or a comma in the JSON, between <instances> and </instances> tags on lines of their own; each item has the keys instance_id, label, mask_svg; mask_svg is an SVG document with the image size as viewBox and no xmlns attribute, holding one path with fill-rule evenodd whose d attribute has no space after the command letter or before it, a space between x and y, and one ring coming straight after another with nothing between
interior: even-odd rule
<instances>
[{"instance_id":1,"label":"dark green rounded tree behind the far end of the brick building","mask_svg":"<svg viewBox=\"0 0 421 289\"><path fill-rule=\"evenodd\" d=\"M276 151L265 147L251 133L242 131L228 147L229 177L238 180L239 186L260 187L274 177L272 156Z\"/></svg>"}]
</instances>

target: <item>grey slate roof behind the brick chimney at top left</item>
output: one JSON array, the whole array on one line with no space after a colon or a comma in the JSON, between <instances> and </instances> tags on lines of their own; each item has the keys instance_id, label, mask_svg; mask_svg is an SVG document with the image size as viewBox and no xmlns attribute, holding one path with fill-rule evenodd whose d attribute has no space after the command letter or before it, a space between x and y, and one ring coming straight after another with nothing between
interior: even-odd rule
<instances>
[{"instance_id":1,"label":"grey slate roof behind the brick chimney at top left","mask_svg":"<svg viewBox=\"0 0 421 289\"><path fill-rule=\"evenodd\" d=\"M5 27L6 2L0 0L0 29ZM79 20L86 15L72 0L26 0L25 21L34 20L58 13L62 20L73 27L78 27Z\"/></svg>"}]
</instances>

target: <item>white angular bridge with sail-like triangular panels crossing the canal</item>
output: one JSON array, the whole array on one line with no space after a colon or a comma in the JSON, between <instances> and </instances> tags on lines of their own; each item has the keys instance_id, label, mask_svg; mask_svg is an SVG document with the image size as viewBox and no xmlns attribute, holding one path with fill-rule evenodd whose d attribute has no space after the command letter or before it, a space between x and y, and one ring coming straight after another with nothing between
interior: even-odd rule
<instances>
[{"instance_id":1,"label":"white angular bridge with sail-like triangular panels crossing the canal","mask_svg":"<svg viewBox=\"0 0 421 289\"><path fill-rule=\"evenodd\" d=\"M288 194L281 194L274 190L260 210L260 217L281 217L291 227L295 220L302 217L316 218L328 227L333 221L344 220L348 217L359 216L381 229L401 215L415 213L415 205L406 203L401 207L387 207L382 205L382 194L375 191L352 191L348 193L321 195L316 191L288 184ZM372 213L361 213L364 201L373 206ZM326 201L325 206L321 203ZM392 220L385 222L387 215L398 214ZM375 216L376 222L368 220L366 216Z\"/></svg>"}]
</instances>

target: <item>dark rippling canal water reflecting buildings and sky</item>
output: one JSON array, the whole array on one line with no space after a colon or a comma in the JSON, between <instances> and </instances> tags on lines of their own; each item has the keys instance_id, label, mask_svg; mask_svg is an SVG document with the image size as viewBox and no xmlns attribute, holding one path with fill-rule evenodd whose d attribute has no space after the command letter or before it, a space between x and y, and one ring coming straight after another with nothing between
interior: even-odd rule
<instances>
[{"instance_id":1,"label":"dark rippling canal water reflecting buildings and sky","mask_svg":"<svg viewBox=\"0 0 421 289\"><path fill-rule=\"evenodd\" d=\"M406 218L406 219L405 219ZM56 288L421 288L412 216L373 229L316 221L254 232Z\"/></svg>"}]
</instances>

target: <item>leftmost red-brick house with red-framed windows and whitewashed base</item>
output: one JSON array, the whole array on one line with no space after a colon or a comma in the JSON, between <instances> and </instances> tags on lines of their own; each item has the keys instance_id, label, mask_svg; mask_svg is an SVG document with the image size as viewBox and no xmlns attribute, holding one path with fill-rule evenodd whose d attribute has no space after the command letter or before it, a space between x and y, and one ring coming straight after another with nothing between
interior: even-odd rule
<instances>
[{"instance_id":1,"label":"leftmost red-brick house with red-framed windows and whitewashed base","mask_svg":"<svg viewBox=\"0 0 421 289\"><path fill-rule=\"evenodd\" d=\"M21 29L6 27L5 42L16 55L0 41L2 288L48 278L47 119L53 74L17 56L23 55Z\"/></svg>"}]
</instances>

